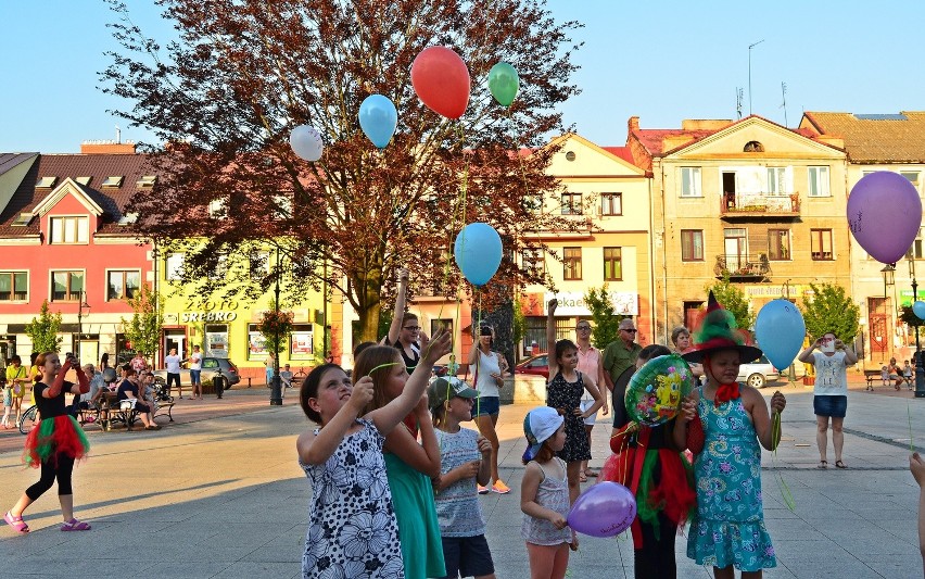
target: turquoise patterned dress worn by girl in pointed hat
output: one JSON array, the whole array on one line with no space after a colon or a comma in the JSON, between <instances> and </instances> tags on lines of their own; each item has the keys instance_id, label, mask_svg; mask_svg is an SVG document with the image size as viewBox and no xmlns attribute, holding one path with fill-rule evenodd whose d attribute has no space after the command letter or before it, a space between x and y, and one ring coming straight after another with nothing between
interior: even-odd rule
<instances>
[{"instance_id":1,"label":"turquoise patterned dress worn by girl in pointed hat","mask_svg":"<svg viewBox=\"0 0 925 579\"><path fill-rule=\"evenodd\" d=\"M742 399L717 407L704 398L697 413L706 442L694 463L697 515L687 556L698 565L743 571L777 566L761 506L761 446Z\"/></svg>"}]
</instances>

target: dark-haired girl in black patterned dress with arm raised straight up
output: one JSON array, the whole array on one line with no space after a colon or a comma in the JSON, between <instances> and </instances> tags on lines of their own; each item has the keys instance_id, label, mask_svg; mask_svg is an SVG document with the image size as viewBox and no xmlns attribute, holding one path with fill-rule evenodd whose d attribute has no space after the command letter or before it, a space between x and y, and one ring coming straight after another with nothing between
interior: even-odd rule
<instances>
[{"instance_id":1,"label":"dark-haired girl in black patterned dress with arm raised straight up","mask_svg":"<svg viewBox=\"0 0 925 579\"><path fill-rule=\"evenodd\" d=\"M584 429L584 419L594 416L604 405L604 397L592 382L585 382L578 372L578 345L571 340L556 341L556 307L559 302L549 300L546 314L546 343L555 344L547 356L549 379L546 385L546 405L556 408L562 415L566 425L566 443L558 456L566 461L569 479L569 500L578 499L582 461L591 460L591 442ZM586 411L582 412L581 398L587 391L594 399Z\"/></svg>"}]
</instances>

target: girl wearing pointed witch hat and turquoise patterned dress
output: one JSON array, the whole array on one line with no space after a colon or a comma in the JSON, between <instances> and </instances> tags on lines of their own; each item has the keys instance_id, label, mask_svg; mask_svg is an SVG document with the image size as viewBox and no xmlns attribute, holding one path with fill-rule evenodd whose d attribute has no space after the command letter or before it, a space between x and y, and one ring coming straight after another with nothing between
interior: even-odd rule
<instances>
[{"instance_id":1,"label":"girl wearing pointed witch hat and turquoise patterned dress","mask_svg":"<svg viewBox=\"0 0 925 579\"><path fill-rule=\"evenodd\" d=\"M733 578L733 567L743 577L761 577L762 569L777 562L764 527L758 444L769 451L777 448L786 400L774 392L769 413L758 390L736 381L739 365L760 357L761 350L747 343L712 292L694 340L696 349L684 358L701 363L708 381L683 402L673 433L682 448L695 445L688 444L688 427L704 435L702 450L690 448L696 454L697 514L687 556L698 565L712 565L717 579Z\"/></svg>"}]
</instances>

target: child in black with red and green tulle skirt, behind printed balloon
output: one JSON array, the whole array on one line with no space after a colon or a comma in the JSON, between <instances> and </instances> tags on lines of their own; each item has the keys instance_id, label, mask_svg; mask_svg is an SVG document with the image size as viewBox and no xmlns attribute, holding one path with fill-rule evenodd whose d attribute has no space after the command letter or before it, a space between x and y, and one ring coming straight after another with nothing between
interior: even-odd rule
<instances>
[{"instance_id":1,"label":"child in black with red and green tulle skirt, behind printed balloon","mask_svg":"<svg viewBox=\"0 0 925 579\"><path fill-rule=\"evenodd\" d=\"M652 382L639 379L650 372L641 368L649 361L670 354L663 345L643 348L636 358L636 375L630 382L631 395L626 395L625 382L622 387L614 385L613 400L625 398L626 403L613 406L616 432L610 438L610 449L614 454L607 460L600 474L601 480L619 482L635 491L636 518L630 529L637 579L676 577L675 536L697 500L688 480L690 465L682 453L683 446L675 444L672 437L675 418L646 425L639 421L636 412L636 399L642 399L646 385ZM688 381L695 380L682 360L676 355L672 358L676 362L668 367L676 366L675 372L685 372Z\"/></svg>"}]
</instances>

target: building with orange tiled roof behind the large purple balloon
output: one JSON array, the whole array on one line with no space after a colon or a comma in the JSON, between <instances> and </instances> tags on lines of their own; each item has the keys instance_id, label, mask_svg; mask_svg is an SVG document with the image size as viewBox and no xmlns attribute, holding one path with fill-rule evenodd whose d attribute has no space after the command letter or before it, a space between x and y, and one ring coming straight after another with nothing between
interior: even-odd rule
<instances>
[{"instance_id":1,"label":"building with orange tiled roof behind the large purple balloon","mask_svg":"<svg viewBox=\"0 0 925 579\"><path fill-rule=\"evenodd\" d=\"M849 191L869 173L891 171L908 178L922 194L925 174L925 112L851 114L806 112L800 130L844 142L847 152L845 188ZM842 217L845 213L842 211ZM847 217L846 217L847 218ZM914 332L899 320L899 307L910 305L912 278L925 277L922 228L907 259L884 275L884 264L873 260L851 238L851 295L861 307L865 357L875 364L890 356L909 360L915 348ZM911 257L911 259L910 259ZM925 282L918 289L925 299Z\"/></svg>"}]
</instances>

